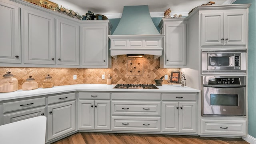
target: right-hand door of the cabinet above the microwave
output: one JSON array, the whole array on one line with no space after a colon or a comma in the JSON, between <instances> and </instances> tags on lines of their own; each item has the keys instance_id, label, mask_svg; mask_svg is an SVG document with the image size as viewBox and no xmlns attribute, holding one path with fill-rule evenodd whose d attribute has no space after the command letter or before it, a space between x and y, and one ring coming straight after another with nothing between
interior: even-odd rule
<instances>
[{"instance_id":1,"label":"right-hand door of the cabinet above the microwave","mask_svg":"<svg viewBox=\"0 0 256 144\"><path fill-rule=\"evenodd\" d=\"M246 44L246 10L224 13L224 45Z\"/></svg>"}]
</instances>

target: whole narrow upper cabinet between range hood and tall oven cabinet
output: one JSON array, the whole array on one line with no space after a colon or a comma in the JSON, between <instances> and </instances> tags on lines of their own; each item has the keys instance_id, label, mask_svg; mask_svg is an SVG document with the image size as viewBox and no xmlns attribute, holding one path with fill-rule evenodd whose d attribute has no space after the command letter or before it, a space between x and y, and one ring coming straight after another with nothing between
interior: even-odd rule
<instances>
[{"instance_id":1,"label":"whole narrow upper cabinet between range hood and tall oven cabinet","mask_svg":"<svg viewBox=\"0 0 256 144\"><path fill-rule=\"evenodd\" d=\"M184 18L163 18L160 22L161 33L165 35L160 68L186 66L186 25Z\"/></svg>"}]
</instances>

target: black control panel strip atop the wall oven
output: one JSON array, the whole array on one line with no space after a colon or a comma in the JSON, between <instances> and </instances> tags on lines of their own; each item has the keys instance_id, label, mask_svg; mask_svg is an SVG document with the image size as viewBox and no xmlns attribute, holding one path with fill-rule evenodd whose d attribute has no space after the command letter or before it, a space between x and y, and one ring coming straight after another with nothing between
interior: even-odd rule
<instances>
[{"instance_id":1,"label":"black control panel strip atop the wall oven","mask_svg":"<svg viewBox=\"0 0 256 144\"><path fill-rule=\"evenodd\" d=\"M209 78L209 85L240 84L240 78Z\"/></svg>"}]
</instances>

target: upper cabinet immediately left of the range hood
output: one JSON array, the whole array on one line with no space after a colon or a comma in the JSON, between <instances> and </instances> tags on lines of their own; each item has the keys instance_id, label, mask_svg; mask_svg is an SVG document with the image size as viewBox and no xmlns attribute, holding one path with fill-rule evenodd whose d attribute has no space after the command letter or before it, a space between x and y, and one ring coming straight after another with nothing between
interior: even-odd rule
<instances>
[{"instance_id":1,"label":"upper cabinet immediately left of the range hood","mask_svg":"<svg viewBox=\"0 0 256 144\"><path fill-rule=\"evenodd\" d=\"M111 66L108 48L109 20L94 20L82 25L80 39L84 68L109 68Z\"/></svg>"}]
</instances>

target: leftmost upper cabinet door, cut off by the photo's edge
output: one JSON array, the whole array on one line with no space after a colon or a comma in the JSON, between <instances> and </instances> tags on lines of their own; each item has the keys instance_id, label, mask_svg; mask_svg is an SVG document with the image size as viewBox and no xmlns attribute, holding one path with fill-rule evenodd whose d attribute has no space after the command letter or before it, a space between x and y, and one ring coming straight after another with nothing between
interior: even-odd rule
<instances>
[{"instance_id":1,"label":"leftmost upper cabinet door, cut off by the photo's edge","mask_svg":"<svg viewBox=\"0 0 256 144\"><path fill-rule=\"evenodd\" d=\"M20 8L0 2L0 62L20 63Z\"/></svg>"}]
</instances>

